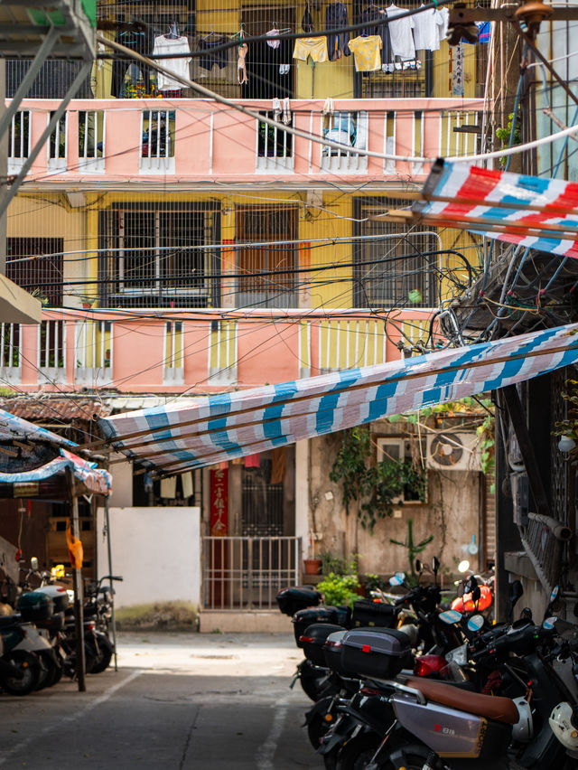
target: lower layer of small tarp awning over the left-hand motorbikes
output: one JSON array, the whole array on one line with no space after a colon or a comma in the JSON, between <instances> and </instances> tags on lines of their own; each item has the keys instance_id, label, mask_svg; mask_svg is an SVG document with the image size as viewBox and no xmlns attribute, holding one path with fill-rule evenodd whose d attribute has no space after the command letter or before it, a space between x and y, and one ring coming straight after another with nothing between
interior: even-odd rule
<instances>
[{"instance_id":1,"label":"lower layer of small tarp awning over the left-hand motorbikes","mask_svg":"<svg viewBox=\"0 0 578 770\"><path fill-rule=\"evenodd\" d=\"M69 491L65 471L70 468L81 494L102 494L107 497L112 489L112 477L78 455L60 450L61 456L30 471L17 474L0 473L0 497L42 497L43 499L65 500Z\"/></svg>"}]
</instances>

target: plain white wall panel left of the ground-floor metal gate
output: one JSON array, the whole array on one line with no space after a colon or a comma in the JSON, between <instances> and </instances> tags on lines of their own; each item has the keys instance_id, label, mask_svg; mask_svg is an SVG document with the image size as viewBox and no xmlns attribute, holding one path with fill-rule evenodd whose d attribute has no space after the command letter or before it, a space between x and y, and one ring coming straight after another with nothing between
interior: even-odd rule
<instances>
[{"instance_id":1,"label":"plain white wall panel left of the ground-floor metal gate","mask_svg":"<svg viewBox=\"0 0 578 770\"><path fill-rule=\"evenodd\" d=\"M151 602L200 604L200 509L110 508L118 607ZM104 509L98 509L98 533ZM107 540L98 542L98 575L107 573Z\"/></svg>"}]
</instances>

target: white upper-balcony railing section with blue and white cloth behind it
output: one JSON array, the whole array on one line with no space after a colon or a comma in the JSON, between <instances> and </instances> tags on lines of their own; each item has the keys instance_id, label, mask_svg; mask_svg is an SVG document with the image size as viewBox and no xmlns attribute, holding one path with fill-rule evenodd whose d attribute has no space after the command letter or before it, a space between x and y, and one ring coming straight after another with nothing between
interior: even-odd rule
<instances>
[{"instance_id":1,"label":"white upper-balcony railing section with blue and white cloth behind it","mask_svg":"<svg viewBox=\"0 0 578 770\"><path fill-rule=\"evenodd\" d=\"M322 116L322 136L341 147L323 146L321 150L322 171L363 174L368 170L367 155L352 153L350 148L368 148L368 112L340 110Z\"/></svg>"}]
</instances>

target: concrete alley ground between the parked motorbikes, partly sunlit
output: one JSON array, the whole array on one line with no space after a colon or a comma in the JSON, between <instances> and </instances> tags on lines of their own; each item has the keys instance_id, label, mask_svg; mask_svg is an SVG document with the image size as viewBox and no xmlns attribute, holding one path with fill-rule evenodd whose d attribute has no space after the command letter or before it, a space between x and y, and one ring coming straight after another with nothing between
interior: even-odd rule
<instances>
[{"instance_id":1,"label":"concrete alley ground between the parked motorbikes, partly sunlit","mask_svg":"<svg viewBox=\"0 0 578 770\"><path fill-rule=\"evenodd\" d=\"M322 770L290 634L124 633L118 671L0 695L0 770Z\"/></svg>"}]
</instances>

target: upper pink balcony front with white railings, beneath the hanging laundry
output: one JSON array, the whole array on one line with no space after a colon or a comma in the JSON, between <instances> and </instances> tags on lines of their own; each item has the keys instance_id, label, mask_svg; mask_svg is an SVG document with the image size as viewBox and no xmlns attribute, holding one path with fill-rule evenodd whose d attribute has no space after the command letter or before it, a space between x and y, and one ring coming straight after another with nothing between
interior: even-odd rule
<instances>
[{"instance_id":1,"label":"upper pink balcony front with white railings, beneath the hanging laundry","mask_svg":"<svg viewBox=\"0 0 578 770\"><path fill-rule=\"evenodd\" d=\"M246 99L245 107L275 117L271 101ZM10 162L22 165L30 137L40 136L57 102L28 99L14 118ZM429 164L359 155L368 150L407 157L471 154L478 141L480 99L337 99L323 114L323 102L292 99L275 126L204 99L73 100L52 132L46 153L34 161L30 177L53 189L56 181L134 183L163 174L167 183L243 182L283 174L297 183L332 174L367 174L368 181L423 177ZM279 117L279 116L277 116ZM331 140L322 146L288 127ZM20 122L18 122L20 121ZM466 132L455 131L464 126ZM96 180L95 180L96 181Z\"/></svg>"}]
</instances>

